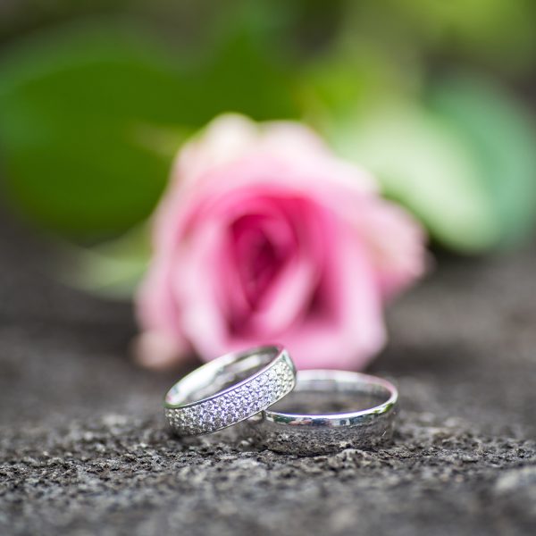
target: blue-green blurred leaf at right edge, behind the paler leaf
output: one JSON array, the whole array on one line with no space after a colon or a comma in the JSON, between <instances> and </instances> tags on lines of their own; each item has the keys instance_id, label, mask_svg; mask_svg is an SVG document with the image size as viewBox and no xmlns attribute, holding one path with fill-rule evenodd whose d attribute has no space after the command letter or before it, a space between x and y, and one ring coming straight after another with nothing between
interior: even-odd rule
<instances>
[{"instance_id":1,"label":"blue-green blurred leaf at right edge, behind the paler leaf","mask_svg":"<svg viewBox=\"0 0 536 536\"><path fill-rule=\"evenodd\" d=\"M431 105L478 159L499 243L530 236L536 223L536 131L529 111L489 80L468 75L443 80Z\"/></svg>"}]
</instances>

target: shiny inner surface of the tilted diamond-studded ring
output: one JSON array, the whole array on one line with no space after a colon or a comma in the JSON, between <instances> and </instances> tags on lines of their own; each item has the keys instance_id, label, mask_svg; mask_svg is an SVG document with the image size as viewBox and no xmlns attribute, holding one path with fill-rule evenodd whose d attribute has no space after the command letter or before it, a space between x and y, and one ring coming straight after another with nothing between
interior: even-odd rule
<instances>
[{"instance_id":1,"label":"shiny inner surface of the tilted diamond-studded ring","mask_svg":"<svg viewBox=\"0 0 536 536\"><path fill-rule=\"evenodd\" d=\"M177 406L209 398L260 371L279 354L279 348L267 347L245 352L217 366L201 367L176 383L166 395L167 404ZM210 366L212 365L212 366Z\"/></svg>"}]
</instances>

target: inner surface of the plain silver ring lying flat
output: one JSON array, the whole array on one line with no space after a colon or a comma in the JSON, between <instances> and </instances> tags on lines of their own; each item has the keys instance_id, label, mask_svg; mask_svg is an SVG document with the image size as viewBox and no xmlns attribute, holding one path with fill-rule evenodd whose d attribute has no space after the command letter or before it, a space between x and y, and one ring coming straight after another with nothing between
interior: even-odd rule
<instances>
[{"instance_id":1,"label":"inner surface of the plain silver ring lying flat","mask_svg":"<svg viewBox=\"0 0 536 536\"><path fill-rule=\"evenodd\" d=\"M299 380L294 391L267 413L335 416L380 406L390 397L389 389L379 383L340 378Z\"/></svg>"}]
</instances>

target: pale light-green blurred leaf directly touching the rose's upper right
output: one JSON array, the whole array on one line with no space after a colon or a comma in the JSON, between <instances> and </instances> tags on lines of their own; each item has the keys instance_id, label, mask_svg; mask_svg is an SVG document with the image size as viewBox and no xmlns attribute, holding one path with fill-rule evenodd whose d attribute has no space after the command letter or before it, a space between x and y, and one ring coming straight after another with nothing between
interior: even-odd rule
<instances>
[{"instance_id":1,"label":"pale light-green blurred leaf directly touching the rose's upper right","mask_svg":"<svg viewBox=\"0 0 536 536\"><path fill-rule=\"evenodd\" d=\"M442 244L475 252L498 240L478 163L456 131L431 113L384 105L339 124L331 140L342 155L371 169L384 193L406 205Z\"/></svg>"}]
</instances>

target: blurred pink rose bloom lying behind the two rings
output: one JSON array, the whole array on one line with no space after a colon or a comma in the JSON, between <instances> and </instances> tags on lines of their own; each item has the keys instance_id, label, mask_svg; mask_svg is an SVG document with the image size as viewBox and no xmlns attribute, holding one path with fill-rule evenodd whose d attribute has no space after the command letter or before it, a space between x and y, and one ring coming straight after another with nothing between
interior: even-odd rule
<instances>
[{"instance_id":1,"label":"blurred pink rose bloom lying behind the two rings","mask_svg":"<svg viewBox=\"0 0 536 536\"><path fill-rule=\"evenodd\" d=\"M362 368L424 264L420 227L368 173L300 124L237 115L180 151L154 247L138 295L153 366L278 342L298 368Z\"/></svg>"}]
</instances>

